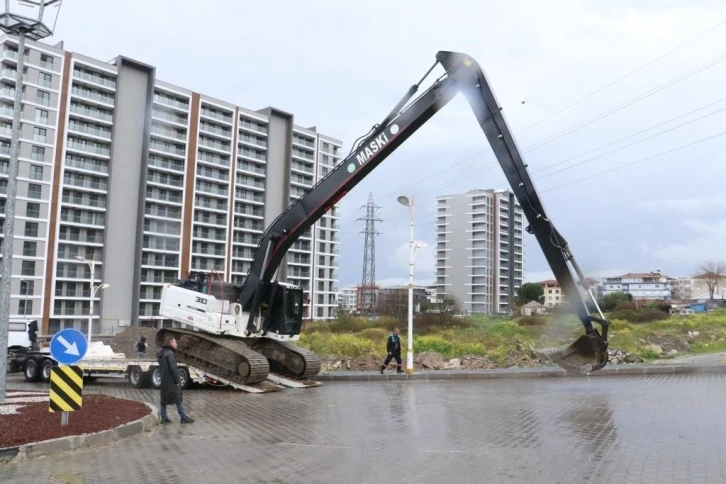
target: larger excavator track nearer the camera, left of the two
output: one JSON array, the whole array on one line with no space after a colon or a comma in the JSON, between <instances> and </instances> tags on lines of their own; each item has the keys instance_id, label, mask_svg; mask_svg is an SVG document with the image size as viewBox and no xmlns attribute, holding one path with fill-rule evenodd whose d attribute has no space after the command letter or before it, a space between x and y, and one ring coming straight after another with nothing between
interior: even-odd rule
<instances>
[{"instance_id":1,"label":"larger excavator track nearer the camera, left of the two","mask_svg":"<svg viewBox=\"0 0 726 484\"><path fill-rule=\"evenodd\" d=\"M178 328L164 328L156 333L161 346L167 336L176 338L177 359L190 366L226 378L240 385L265 381L270 364L264 355L250 349L238 338L228 338Z\"/></svg>"}]
</instances>

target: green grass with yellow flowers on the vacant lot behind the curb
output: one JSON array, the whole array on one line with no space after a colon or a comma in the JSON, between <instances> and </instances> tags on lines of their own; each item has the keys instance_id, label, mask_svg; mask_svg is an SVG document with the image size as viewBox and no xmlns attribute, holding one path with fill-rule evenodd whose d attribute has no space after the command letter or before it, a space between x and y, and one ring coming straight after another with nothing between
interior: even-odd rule
<instances>
[{"instance_id":1,"label":"green grass with yellow flowers on the vacant lot behind the curb","mask_svg":"<svg viewBox=\"0 0 726 484\"><path fill-rule=\"evenodd\" d=\"M657 359L673 350L679 356L726 351L724 310L690 316L666 315L665 319L658 316L650 321L643 321L642 315L633 320L613 317L627 316L631 311L620 308L606 315L612 323L612 348L644 359ZM648 311L652 313L652 310ZM300 344L323 358L381 358L386 354L386 338L396 326L401 329L401 344L405 351L407 326L395 318L369 320L345 316L332 322L308 322ZM507 319L487 316L442 318L426 314L417 316L414 321L414 352L435 351L446 358L484 356L503 364L517 352L564 347L582 334L582 325L572 316Z\"/></svg>"}]
</instances>

